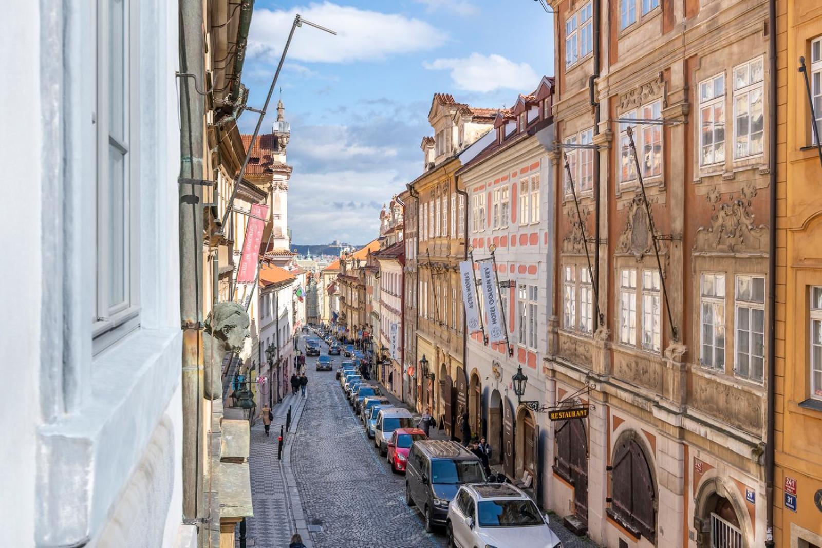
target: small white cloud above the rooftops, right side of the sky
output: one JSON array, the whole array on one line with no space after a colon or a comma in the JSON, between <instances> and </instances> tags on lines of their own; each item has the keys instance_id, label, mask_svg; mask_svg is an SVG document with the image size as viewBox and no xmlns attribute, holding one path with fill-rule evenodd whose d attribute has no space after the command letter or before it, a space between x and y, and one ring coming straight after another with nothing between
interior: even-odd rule
<instances>
[{"instance_id":1,"label":"small white cloud above the rooftops, right side of the sky","mask_svg":"<svg viewBox=\"0 0 822 548\"><path fill-rule=\"evenodd\" d=\"M516 63L501 55L471 53L467 58L441 58L423 62L431 71L448 70L459 90L488 92L500 89L527 92L537 87L539 76L527 62Z\"/></svg>"}]
</instances>

